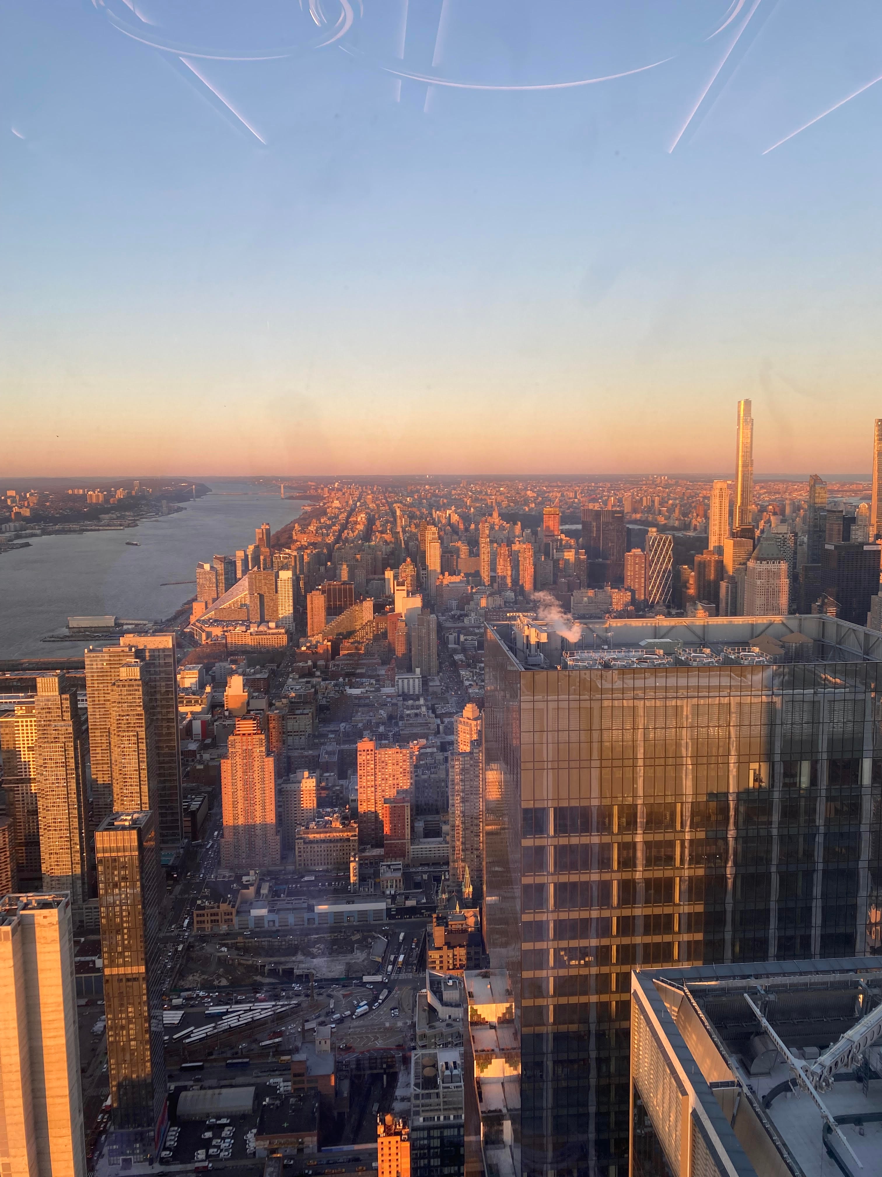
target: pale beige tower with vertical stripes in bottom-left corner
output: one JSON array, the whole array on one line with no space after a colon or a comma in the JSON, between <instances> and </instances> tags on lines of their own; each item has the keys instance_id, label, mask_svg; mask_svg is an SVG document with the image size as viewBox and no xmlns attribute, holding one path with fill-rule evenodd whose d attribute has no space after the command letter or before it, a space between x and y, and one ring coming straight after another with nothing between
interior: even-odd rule
<instances>
[{"instance_id":1,"label":"pale beige tower with vertical stripes in bottom-left corner","mask_svg":"<svg viewBox=\"0 0 882 1177\"><path fill-rule=\"evenodd\" d=\"M0 1173L86 1177L67 895L0 898Z\"/></svg>"}]
</instances>

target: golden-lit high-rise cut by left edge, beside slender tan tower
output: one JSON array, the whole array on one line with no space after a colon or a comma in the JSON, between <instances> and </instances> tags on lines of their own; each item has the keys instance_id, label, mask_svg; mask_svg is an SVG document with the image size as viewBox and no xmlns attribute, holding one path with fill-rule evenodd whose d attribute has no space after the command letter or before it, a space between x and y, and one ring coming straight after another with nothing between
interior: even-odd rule
<instances>
[{"instance_id":1,"label":"golden-lit high-rise cut by left edge, beside slender tan tower","mask_svg":"<svg viewBox=\"0 0 882 1177\"><path fill-rule=\"evenodd\" d=\"M0 716L0 756L6 812L13 822L15 869L19 883L41 885L40 810L36 799L36 716L33 699L16 703L12 714Z\"/></svg>"}]
</instances>

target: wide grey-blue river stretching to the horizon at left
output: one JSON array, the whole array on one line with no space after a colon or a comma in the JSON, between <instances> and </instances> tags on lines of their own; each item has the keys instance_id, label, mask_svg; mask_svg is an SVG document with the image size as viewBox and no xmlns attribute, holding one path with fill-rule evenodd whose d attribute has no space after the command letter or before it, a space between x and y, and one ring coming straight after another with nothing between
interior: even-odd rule
<instances>
[{"instance_id":1,"label":"wide grey-blue river stretching to the horizon at left","mask_svg":"<svg viewBox=\"0 0 882 1177\"><path fill-rule=\"evenodd\" d=\"M212 493L176 514L123 531L44 536L0 556L0 659L81 653L88 643L40 640L65 633L68 617L171 617L195 592L195 583L172 581L195 581L199 560L233 556L254 543L260 524L278 531L302 511L256 484L202 481Z\"/></svg>"}]
</instances>

